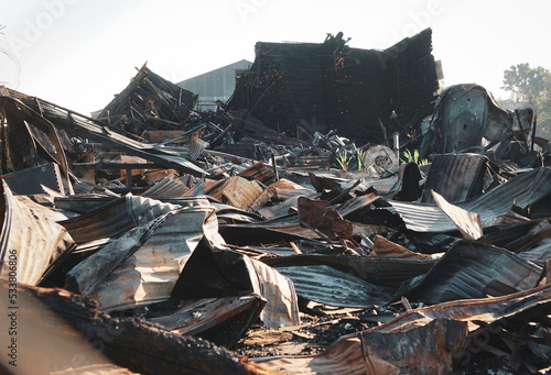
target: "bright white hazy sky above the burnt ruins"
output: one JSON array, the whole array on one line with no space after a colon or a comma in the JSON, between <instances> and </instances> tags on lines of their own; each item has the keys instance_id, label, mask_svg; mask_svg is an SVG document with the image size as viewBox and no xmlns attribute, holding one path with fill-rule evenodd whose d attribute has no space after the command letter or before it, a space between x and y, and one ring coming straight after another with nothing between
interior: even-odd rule
<instances>
[{"instance_id":1,"label":"bright white hazy sky above the burnt ruins","mask_svg":"<svg viewBox=\"0 0 551 375\"><path fill-rule=\"evenodd\" d=\"M179 82L242 58L255 43L314 42L342 31L387 48L425 27L444 84L506 98L511 65L551 68L540 0L0 0L0 84L78 112L104 108L148 67ZM2 29L3 27L3 29Z\"/></svg>"}]
</instances>

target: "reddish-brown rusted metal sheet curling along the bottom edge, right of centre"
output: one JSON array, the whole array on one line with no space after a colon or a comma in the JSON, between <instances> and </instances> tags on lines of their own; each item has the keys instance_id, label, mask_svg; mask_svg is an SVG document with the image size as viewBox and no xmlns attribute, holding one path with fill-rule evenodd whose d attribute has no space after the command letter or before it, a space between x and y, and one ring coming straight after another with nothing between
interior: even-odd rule
<instances>
[{"instance_id":1,"label":"reddish-brown rusted metal sheet curling along the bottom edge, right of centre","mask_svg":"<svg viewBox=\"0 0 551 375\"><path fill-rule=\"evenodd\" d=\"M467 346L467 324L435 319L400 331L367 330L344 337L318 356L260 359L284 374L451 374Z\"/></svg>"}]
</instances>

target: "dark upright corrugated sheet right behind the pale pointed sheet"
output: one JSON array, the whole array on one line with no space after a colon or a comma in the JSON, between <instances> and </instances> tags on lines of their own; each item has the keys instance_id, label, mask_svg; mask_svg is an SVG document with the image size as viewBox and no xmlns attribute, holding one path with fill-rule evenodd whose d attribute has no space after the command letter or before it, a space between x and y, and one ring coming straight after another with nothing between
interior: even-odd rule
<instances>
[{"instance_id":1,"label":"dark upright corrugated sheet right behind the pale pointed sheet","mask_svg":"<svg viewBox=\"0 0 551 375\"><path fill-rule=\"evenodd\" d=\"M433 203L431 190L451 203L465 201L483 194L488 158L477 154L439 155L431 164L421 201Z\"/></svg>"}]
</instances>

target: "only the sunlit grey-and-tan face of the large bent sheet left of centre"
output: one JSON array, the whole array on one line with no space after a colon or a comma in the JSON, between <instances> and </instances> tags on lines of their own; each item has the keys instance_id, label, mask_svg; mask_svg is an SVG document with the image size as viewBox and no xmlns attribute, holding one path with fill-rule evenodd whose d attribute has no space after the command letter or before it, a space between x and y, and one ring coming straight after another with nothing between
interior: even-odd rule
<instances>
[{"instance_id":1,"label":"only the sunlit grey-and-tan face of the large bent sheet left of centre","mask_svg":"<svg viewBox=\"0 0 551 375\"><path fill-rule=\"evenodd\" d=\"M121 310L169 299L198 242L204 236L219 242L213 207L171 211L160 220L139 250L88 294L100 309Z\"/></svg>"}]
</instances>

